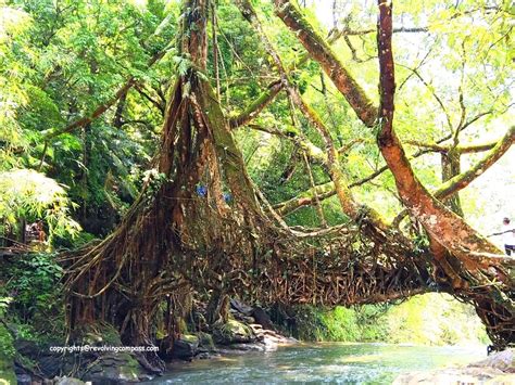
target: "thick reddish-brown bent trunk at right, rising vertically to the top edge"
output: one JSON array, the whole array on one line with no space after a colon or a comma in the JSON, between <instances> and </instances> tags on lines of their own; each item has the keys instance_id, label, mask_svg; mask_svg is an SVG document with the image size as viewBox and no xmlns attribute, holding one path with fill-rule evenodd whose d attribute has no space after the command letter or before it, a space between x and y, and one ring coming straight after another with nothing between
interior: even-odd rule
<instances>
[{"instance_id":1,"label":"thick reddish-brown bent trunk at right, rising vertically to the top edge","mask_svg":"<svg viewBox=\"0 0 515 385\"><path fill-rule=\"evenodd\" d=\"M493 261L487 261L485 266L482 260L472 260L469 252L501 254L500 251L429 194L415 177L393 130L394 65L391 52L391 2L379 0L377 34L381 98L381 127L377 138L379 149L393 174L402 202L429 235L465 262L467 269L488 267L488 264Z\"/></svg>"}]
</instances>

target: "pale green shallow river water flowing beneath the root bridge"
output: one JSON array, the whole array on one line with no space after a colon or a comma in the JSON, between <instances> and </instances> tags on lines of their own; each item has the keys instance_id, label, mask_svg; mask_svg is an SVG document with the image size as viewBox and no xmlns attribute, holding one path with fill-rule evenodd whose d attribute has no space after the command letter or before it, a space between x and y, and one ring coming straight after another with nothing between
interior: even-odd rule
<instances>
[{"instance_id":1,"label":"pale green shallow river water flowing beneath the root bridge","mask_svg":"<svg viewBox=\"0 0 515 385\"><path fill-rule=\"evenodd\" d=\"M298 344L174 364L152 384L389 384L401 373L466 364L486 348L385 344Z\"/></svg>"}]
</instances>

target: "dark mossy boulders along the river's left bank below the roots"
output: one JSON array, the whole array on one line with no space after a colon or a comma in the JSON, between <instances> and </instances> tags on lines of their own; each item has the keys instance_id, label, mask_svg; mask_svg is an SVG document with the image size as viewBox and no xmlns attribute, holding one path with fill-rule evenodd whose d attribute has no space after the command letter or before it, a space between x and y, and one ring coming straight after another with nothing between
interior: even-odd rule
<instances>
[{"instance_id":1,"label":"dark mossy boulders along the river's left bank below the roots","mask_svg":"<svg viewBox=\"0 0 515 385\"><path fill-rule=\"evenodd\" d=\"M260 307L250 307L236 299L228 304L225 321L200 328L198 332L179 334L172 345L158 341L159 355L166 361L210 359L226 354L268 351L279 345L293 344L276 331L268 315ZM155 376L153 368L141 364L140 356L129 351L52 351L48 344L41 346L23 337L17 330L7 331L14 336L17 351L13 362L0 360L0 384L126 384L147 381ZM56 346L65 345L55 342ZM83 329L80 338L72 346L122 347L118 334L110 325L96 324ZM79 380L80 378L80 380Z\"/></svg>"}]
</instances>

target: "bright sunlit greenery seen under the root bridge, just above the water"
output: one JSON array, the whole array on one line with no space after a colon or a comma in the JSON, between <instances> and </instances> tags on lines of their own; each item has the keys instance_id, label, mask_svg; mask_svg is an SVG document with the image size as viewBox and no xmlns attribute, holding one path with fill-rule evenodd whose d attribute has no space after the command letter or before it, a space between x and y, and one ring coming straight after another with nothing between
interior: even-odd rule
<instances>
[{"instance_id":1,"label":"bright sunlit greenery seen under the root bridge, just above the water","mask_svg":"<svg viewBox=\"0 0 515 385\"><path fill-rule=\"evenodd\" d=\"M382 342L419 345L488 344L474 308L449 295L425 294L400 305L297 309L297 336L304 341Z\"/></svg>"}]
</instances>

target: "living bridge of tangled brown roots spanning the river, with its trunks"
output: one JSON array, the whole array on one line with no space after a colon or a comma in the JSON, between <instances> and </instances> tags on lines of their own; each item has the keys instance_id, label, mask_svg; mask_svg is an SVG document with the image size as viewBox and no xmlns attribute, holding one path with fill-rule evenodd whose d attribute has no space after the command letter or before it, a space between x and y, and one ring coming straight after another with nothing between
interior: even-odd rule
<instances>
[{"instance_id":1,"label":"living bridge of tangled brown roots spanning the river, with its trunks","mask_svg":"<svg viewBox=\"0 0 515 385\"><path fill-rule=\"evenodd\" d=\"M300 16L289 18L296 9L286 7L288 1L276 3L287 24L290 21L294 28L307 28L304 21L293 25L292 21ZM350 194L349 205L344 204L344 194L339 196L342 208L350 207L352 224L347 229L323 229L310 234L284 222L249 178L231 127L204 75L206 0L185 1L184 14L180 53L191 66L175 81L155 169L112 235L98 245L63 256L72 331L100 320L115 325L126 344L153 344L156 330L164 330L168 342L173 342L180 332L178 319L186 317L188 306L168 306L169 298L190 304L193 293L202 299L234 294L263 304L330 306L403 299L438 288L473 303L497 347L513 344L514 280L508 274L510 267L501 259L476 255L481 251L495 254L497 249L475 232L473 239L485 247L466 249L463 246L469 244L469 239L463 239L462 233L454 240L455 229L466 234L473 230L435 198L424 195L427 192L413 180L412 170L407 176L413 178L407 181L417 188L413 191L420 192L423 203L431 203L423 208L437 210L429 213L435 214L436 223L428 213L414 211L413 202L405 200L413 191L406 191L399 178L395 180L406 207L427 227L430 251L417 249L405 235L377 220L372 210L354 204ZM316 34L299 36L310 53L310 44L318 44ZM316 60L325 61L328 68L341 66L326 44L317 47L324 49L324 54L313 54ZM272 47L268 51L274 53ZM385 59L388 61L381 57L381 63ZM392 70L389 65L385 68ZM334 79L341 82L338 89L342 93L352 91L347 98L349 103L370 126L372 111L375 114L377 110L361 89L352 89L354 82L347 72L331 74L340 74ZM287 76L282 75L288 86ZM381 105L387 118L382 121L391 124L392 76L381 79L390 79L390 84L382 85L386 93ZM289 92L294 99L296 90L290 87ZM316 124L330 149L330 134L322 123ZM395 142L392 126L381 126L380 133L379 146L385 157L391 155L389 151L399 155L402 149ZM391 165L391 157L387 159L394 174L399 172L395 167L410 167L405 156L399 156L404 162L400 165ZM335 155L331 177L340 182L341 192L347 192L336 159ZM205 191L198 192L199 185ZM229 203L222 197L224 192L231 196ZM444 234L438 232L439 220L444 221ZM452 228L449 223L459 226ZM164 368L155 355L141 356L140 361L155 371Z\"/></svg>"}]
</instances>

